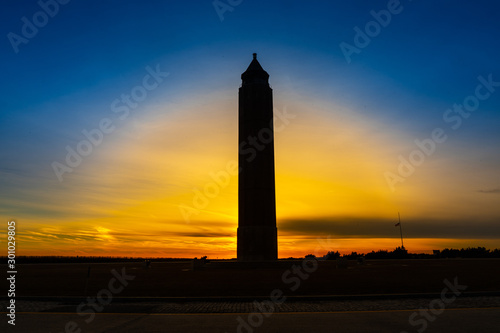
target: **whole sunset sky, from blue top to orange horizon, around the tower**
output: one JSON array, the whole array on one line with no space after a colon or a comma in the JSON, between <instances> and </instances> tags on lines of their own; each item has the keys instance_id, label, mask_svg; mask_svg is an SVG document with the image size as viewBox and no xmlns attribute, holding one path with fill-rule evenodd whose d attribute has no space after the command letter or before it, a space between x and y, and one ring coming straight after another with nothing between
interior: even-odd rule
<instances>
[{"instance_id":1,"label":"whole sunset sky, from blue top to orange horizon, around the tower","mask_svg":"<svg viewBox=\"0 0 500 333\"><path fill-rule=\"evenodd\" d=\"M410 252L500 248L496 1L46 3L0 13L0 233L17 222L18 255L235 257L225 175L253 52L280 258L394 249L398 212Z\"/></svg>"}]
</instances>

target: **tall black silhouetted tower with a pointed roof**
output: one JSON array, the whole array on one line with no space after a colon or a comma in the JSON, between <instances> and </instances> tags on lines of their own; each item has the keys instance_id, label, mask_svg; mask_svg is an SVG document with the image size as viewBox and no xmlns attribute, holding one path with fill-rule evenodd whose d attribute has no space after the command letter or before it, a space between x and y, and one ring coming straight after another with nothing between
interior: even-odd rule
<instances>
[{"instance_id":1,"label":"tall black silhouetted tower with a pointed roof","mask_svg":"<svg viewBox=\"0 0 500 333\"><path fill-rule=\"evenodd\" d=\"M239 89L238 260L278 258L273 90L257 54Z\"/></svg>"}]
</instances>

